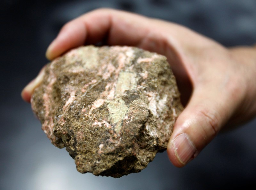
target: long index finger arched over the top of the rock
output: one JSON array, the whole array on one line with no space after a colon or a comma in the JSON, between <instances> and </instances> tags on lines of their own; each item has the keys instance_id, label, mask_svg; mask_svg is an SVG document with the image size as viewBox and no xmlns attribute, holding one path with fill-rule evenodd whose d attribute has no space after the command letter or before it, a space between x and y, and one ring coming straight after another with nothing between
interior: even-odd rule
<instances>
[{"instance_id":1,"label":"long index finger arched over the top of the rock","mask_svg":"<svg viewBox=\"0 0 256 190\"><path fill-rule=\"evenodd\" d=\"M108 45L137 46L165 54L166 36L161 32L166 31L166 25L171 24L124 11L98 9L63 26L46 56L52 60L71 48L104 40Z\"/></svg>"}]
</instances>

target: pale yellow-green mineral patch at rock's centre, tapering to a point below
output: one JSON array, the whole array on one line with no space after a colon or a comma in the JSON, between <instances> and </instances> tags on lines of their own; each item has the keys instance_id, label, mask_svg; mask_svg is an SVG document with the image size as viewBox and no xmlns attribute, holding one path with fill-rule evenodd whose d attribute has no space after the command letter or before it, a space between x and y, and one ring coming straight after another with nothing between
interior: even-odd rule
<instances>
[{"instance_id":1,"label":"pale yellow-green mineral patch at rock's centre, tapering to a point below","mask_svg":"<svg viewBox=\"0 0 256 190\"><path fill-rule=\"evenodd\" d=\"M115 131L118 133L121 129L122 121L128 111L124 100L116 99L108 102L108 112L111 118L112 124L116 124Z\"/></svg>"}]
</instances>

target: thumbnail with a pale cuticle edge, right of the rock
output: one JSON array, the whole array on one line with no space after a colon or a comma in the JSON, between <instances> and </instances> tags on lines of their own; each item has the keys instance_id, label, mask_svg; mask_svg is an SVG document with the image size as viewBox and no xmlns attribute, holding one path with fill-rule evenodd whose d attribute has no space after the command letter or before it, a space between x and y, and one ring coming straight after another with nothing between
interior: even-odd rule
<instances>
[{"instance_id":1,"label":"thumbnail with a pale cuticle edge, right of the rock","mask_svg":"<svg viewBox=\"0 0 256 190\"><path fill-rule=\"evenodd\" d=\"M174 152L181 164L185 165L196 156L196 147L186 133L181 133L173 141Z\"/></svg>"}]
</instances>

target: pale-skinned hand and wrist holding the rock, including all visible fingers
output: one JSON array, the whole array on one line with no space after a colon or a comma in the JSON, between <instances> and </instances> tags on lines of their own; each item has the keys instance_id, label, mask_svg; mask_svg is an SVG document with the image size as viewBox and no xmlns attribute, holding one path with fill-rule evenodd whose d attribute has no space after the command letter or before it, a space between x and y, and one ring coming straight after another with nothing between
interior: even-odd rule
<instances>
[{"instance_id":1,"label":"pale-skinned hand and wrist holding the rock, including all visible fingers","mask_svg":"<svg viewBox=\"0 0 256 190\"><path fill-rule=\"evenodd\" d=\"M221 129L234 128L256 115L255 46L226 48L175 23L98 9L63 26L46 57L53 60L72 48L102 41L167 57L185 105L167 147L177 167L195 158ZM43 72L22 91L25 101L30 102Z\"/></svg>"}]
</instances>

